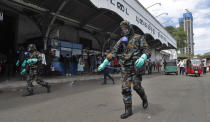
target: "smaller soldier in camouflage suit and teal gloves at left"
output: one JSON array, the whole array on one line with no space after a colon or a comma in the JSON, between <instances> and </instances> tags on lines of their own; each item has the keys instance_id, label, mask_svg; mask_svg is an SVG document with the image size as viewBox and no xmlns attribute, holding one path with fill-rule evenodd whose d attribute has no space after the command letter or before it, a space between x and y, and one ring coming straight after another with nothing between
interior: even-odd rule
<instances>
[{"instance_id":1,"label":"smaller soldier in camouflage suit and teal gloves at left","mask_svg":"<svg viewBox=\"0 0 210 122\"><path fill-rule=\"evenodd\" d=\"M39 66L41 60L41 54L36 50L36 46L34 44L29 44L28 59L23 62L22 65L25 65L25 68L21 71L21 74L26 74L27 76L27 93L24 94L24 96L34 94L33 81L36 81L37 84L47 88L48 93L50 92L50 85L39 77Z\"/></svg>"}]
</instances>

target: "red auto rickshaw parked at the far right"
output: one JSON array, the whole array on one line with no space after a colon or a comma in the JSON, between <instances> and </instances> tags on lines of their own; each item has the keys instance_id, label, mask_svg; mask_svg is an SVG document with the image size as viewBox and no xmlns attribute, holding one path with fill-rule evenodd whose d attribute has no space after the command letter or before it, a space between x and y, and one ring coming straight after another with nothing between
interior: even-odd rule
<instances>
[{"instance_id":1,"label":"red auto rickshaw parked at the far right","mask_svg":"<svg viewBox=\"0 0 210 122\"><path fill-rule=\"evenodd\" d=\"M186 75L192 74L196 77L200 76L202 71L202 63L198 58L188 59L186 63Z\"/></svg>"}]
</instances>

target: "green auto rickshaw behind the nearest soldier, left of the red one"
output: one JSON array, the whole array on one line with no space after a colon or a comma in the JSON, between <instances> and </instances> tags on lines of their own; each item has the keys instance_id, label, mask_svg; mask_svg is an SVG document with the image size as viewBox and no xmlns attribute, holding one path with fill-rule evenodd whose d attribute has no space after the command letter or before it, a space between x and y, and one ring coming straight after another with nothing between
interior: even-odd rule
<instances>
[{"instance_id":1,"label":"green auto rickshaw behind the nearest soldier, left of the red one","mask_svg":"<svg viewBox=\"0 0 210 122\"><path fill-rule=\"evenodd\" d=\"M178 75L176 60L170 60L164 62L164 73L165 74L175 73L176 75Z\"/></svg>"}]
</instances>

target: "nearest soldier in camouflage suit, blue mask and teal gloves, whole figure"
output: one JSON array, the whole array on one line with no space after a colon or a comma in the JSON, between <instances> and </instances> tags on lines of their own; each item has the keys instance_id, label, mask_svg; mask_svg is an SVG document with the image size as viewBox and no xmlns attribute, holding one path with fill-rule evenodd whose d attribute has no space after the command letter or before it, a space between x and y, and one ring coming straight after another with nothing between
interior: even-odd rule
<instances>
[{"instance_id":1,"label":"nearest soldier in camouflage suit, blue mask and teal gloves, whole figure","mask_svg":"<svg viewBox=\"0 0 210 122\"><path fill-rule=\"evenodd\" d=\"M141 85L144 62L150 58L151 50L148 47L143 36L135 34L132 25L127 21L120 23L122 38L115 44L112 52L107 54L104 62L98 67L98 71L103 70L110 60L114 59L119 51L123 48L121 60L121 81L122 95L125 104L125 113L121 115L125 119L132 115L132 98L131 84L133 89L141 97L143 108L148 107L147 96Z\"/></svg>"}]
</instances>

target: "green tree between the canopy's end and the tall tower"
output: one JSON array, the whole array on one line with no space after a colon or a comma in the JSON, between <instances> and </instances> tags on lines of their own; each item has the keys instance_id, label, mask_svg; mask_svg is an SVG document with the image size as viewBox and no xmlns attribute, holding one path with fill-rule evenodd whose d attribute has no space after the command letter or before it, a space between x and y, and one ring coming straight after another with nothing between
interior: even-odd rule
<instances>
[{"instance_id":1,"label":"green tree between the canopy's end and the tall tower","mask_svg":"<svg viewBox=\"0 0 210 122\"><path fill-rule=\"evenodd\" d=\"M174 28L173 26L167 26L165 29L171 34L172 37L177 42L177 50L182 49L187 46L185 40L187 39L187 34L184 32L184 28L178 27Z\"/></svg>"}]
</instances>

